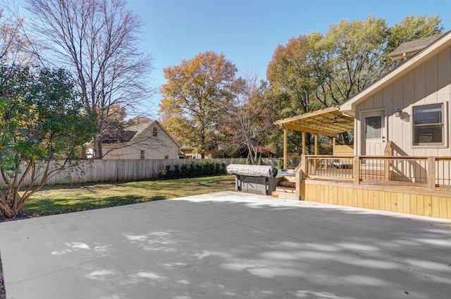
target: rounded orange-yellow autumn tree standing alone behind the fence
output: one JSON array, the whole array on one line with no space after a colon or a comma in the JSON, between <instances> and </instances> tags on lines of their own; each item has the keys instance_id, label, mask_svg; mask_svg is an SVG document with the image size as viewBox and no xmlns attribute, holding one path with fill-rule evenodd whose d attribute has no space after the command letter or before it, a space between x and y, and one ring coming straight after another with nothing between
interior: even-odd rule
<instances>
[{"instance_id":1,"label":"rounded orange-yellow autumn tree standing alone behind the fence","mask_svg":"<svg viewBox=\"0 0 451 299\"><path fill-rule=\"evenodd\" d=\"M220 139L218 120L233 98L235 72L237 68L223 53L213 51L163 68L167 80L159 105L163 123L202 158Z\"/></svg>"}]
</instances>

